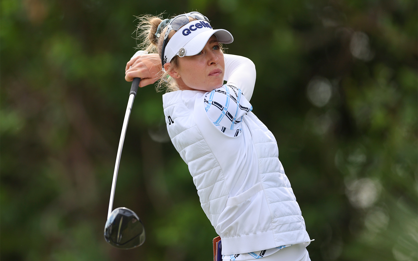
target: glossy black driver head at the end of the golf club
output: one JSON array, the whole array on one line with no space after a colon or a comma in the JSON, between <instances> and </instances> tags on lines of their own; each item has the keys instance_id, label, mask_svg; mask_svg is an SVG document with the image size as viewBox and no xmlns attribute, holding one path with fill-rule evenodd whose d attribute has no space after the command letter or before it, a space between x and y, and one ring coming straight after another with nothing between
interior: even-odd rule
<instances>
[{"instance_id":1,"label":"glossy black driver head at the end of the golf club","mask_svg":"<svg viewBox=\"0 0 418 261\"><path fill-rule=\"evenodd\" d=\"M144 243L145 228L135 212L116 208L104 226L104 239L116 248L135 248Z\"/></svg>"}]
</instances>

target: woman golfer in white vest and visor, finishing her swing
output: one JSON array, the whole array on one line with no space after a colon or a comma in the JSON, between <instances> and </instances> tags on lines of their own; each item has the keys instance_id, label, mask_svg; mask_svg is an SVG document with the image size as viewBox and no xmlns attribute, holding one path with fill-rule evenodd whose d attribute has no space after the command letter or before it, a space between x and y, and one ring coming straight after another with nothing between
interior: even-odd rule
<instances>
[{"instance_id":1,"label":"woman golfer in white vest and visor, finishing her swing","mask_svg":"<svg viewBox=\"0 0 418 261\"><path fill-rule=\"evenodd\" d=\"M222 239L222 260L310 260L311 239L276 140L252 113L254 64L224 54L221 43L232 43L231 33L213 29L197 12L171 20L147 16L139 29L158 55L131 59L125 79L139 77L142 87L160 78L168 85L168 134Z\"/></svg>"}]
</instances>

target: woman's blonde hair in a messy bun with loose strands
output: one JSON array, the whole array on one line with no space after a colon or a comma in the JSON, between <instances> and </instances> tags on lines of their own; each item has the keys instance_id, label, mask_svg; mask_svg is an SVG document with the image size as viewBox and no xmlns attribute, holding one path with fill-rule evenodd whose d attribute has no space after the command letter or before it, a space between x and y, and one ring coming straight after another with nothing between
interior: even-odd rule
<instances>
[{"instance_id":1,"label":"woman's blonde hair in a messy bun with loose strands","mask_svg":"<svg viewBox=\"0 0 418 261\"><path fill-rule=\"evenodd\" d=\"M137 49L148 51L148 53L158 53L158 55L161 57L161 50L163 48L164 35L166 33L167 26L161 29L161 36L159 38L155 36L155 33L157 32L158 25L160 25L160 23L163 21L162 14L158 16L142 15L138 16L137 18L139 23L136 29L136 39L140 41ZM189 16L189 22L194 20L197 19L191 18ZM176 33L176 31L171 30L171 32L168 34L169 40L174 35L174 33ZM171 71L175 68L178 68L178 56L174 56L174 58L171 59L170 66L168 70L166 70L167 72L161 71L159 73L160 80L155 86L157 91L161 91L164 87L167 88L167 91L178 90L176 80L168 75L168 71Z\"/></svg>"}]
</instances>

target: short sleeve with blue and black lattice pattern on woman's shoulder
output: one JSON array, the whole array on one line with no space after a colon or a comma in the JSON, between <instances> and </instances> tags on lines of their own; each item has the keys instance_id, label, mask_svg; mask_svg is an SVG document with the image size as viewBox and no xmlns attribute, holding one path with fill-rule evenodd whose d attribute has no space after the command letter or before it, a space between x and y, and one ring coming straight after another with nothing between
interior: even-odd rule
<instances>
[{"instance_id":1,"label":"short sleeve with blue and black lattice pattern on woman's shoulder","mask_svg":"<svg viewBox=\"0 0 418 261\"><path fill-rule=\"evenodd\" d=\"M252 111L242 91L231 84L224 84L206 94L204 103L209 119L231 137L240 135L242 116Z\"/></svg>"}]
</instances>

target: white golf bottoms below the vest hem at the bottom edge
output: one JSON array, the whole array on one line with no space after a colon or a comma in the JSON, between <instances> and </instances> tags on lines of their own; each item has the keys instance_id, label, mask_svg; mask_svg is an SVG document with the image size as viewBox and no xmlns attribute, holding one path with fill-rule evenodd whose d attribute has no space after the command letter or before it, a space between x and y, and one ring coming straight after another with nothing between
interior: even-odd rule
<instances>
[{"instance_id":1,"label":"white golf bottoms below the vest hem at the bottom edge","mask_svg":"<svg viewBox=\"0 0 418 261\"><path fill-rule=\"evenodd\" d=\"M306 246L308 243L300 243L280 249L270 256L265 256L262 261L311 261Z\"/></svg>"}]
</instances>

